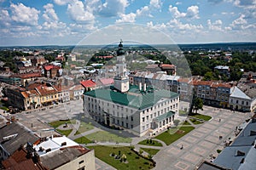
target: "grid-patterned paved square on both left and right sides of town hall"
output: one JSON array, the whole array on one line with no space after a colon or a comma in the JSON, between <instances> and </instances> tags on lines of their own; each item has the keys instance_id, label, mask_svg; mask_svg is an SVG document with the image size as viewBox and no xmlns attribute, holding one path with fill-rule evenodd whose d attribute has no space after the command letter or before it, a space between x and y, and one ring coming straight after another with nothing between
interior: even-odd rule
<instances>
[{"instance_id":1,"label":"grid-patterned paved square on both left and right sides of town hall","mask_svg":"<svg viewBox=\"0 0 256 170\"><path fill-rule=\"evenodd\" d=\"M61 104L45 111L22 112L15 114L15 116L21 124L26 127L32 127L33 131L40 129L49 129L51 131L52 129L46 125L47 122L73 118L81 120L79 116L83 112L82 103L83 100L70 101L69 105ZM161 147L161 150L154 156L154 161L156 161L154 169L195 169L202 160L207 159L209 161L211 155L217 156L217 150L222 150L224 148L224 141L234 136L236 127L252 116L250 113L234 113L230 110L216 109L209 106L204 106L203 109L204 111L199 112L212 116L212 119L209 122L195 125L195 129L183 136L183 138L168 146L164 145ZM185 117L181 119L185 119ZM74 126L73 128L79 128L79 126ZM92 132L94 131L95 129ZM219 136L222 136L222 138L220 139ZM137 144L137 142L145 138L135 138L132 144L140 147L140 144ZM182 150L181 147L183 147ZM114 168L96 159L96 169L108 170Z\"/></svg>"}]
</instances>

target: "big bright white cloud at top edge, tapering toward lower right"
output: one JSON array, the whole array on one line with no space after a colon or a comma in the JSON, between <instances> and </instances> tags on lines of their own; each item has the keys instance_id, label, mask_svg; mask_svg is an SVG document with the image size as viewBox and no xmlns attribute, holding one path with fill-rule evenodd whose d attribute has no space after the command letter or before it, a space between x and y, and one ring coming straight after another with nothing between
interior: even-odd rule
<instances>
[{"instance_id":1,"label":"big bright white cloud at top edge, tapering toward lower right","mask_svg":"<svg viewBox=\"0 0 256 170\"><path fill-rule=\"evenodd\" d=\"M67 13L72 20L77 22L88 22L95 19L94 15L85 9L84 3L79 0L67 5Z\"/></svg>"}]
</instances>

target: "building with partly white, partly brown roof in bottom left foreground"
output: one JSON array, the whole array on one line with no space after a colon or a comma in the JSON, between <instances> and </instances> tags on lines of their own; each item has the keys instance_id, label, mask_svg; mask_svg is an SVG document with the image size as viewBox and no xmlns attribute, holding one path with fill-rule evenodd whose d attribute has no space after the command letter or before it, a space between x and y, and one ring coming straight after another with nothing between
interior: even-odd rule
<instances>
[{"instance_id":1,"label":"building with partly white, partly brown roof in bottom left foreground","mask_svg":"<svg viewBox=\"0 0 256 170\"><path fill-rule=\"evenodd\" d=\"M38 159L48 169L96 169L94 150L89 150L65 136L49 137L34 146Z\"/></svg>"}]
</instances>

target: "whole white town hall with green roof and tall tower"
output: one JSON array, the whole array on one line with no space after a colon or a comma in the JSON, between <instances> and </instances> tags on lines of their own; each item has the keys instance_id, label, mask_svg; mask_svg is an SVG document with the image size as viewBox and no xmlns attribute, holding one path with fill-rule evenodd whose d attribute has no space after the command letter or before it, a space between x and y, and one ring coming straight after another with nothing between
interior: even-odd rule
<instances>
[{"instance_id":1,"label":"whole white town hall with green roof and tall tower","mask_svg":"<svg viewBox=\"0 0 256 170\"><path fill-rule=\"evenodd\" d=\"M84 93L84 114L138 136L172 126L178 114L179 95L146 83L129 84L122 47L120 42L114 85Z\"/></svg>"}]
</instances>

